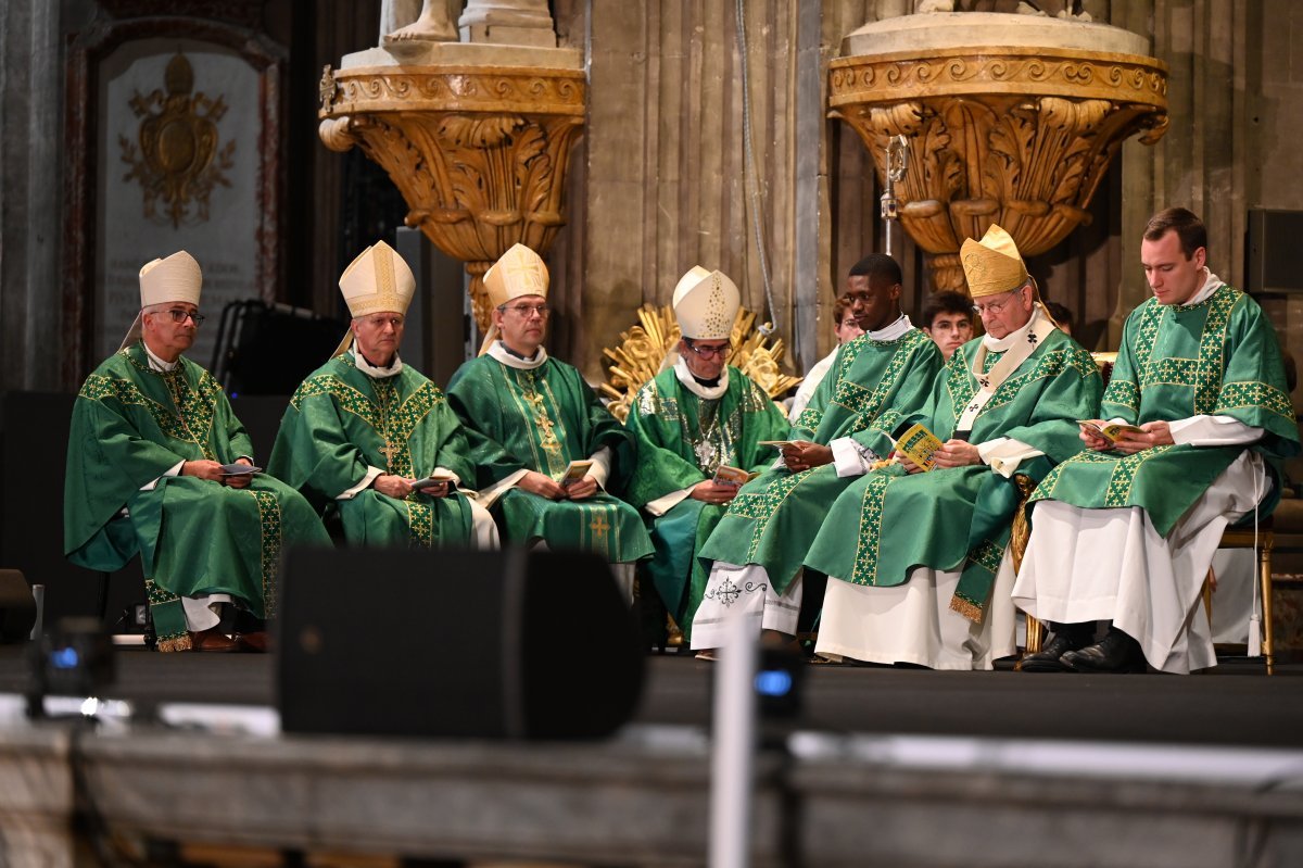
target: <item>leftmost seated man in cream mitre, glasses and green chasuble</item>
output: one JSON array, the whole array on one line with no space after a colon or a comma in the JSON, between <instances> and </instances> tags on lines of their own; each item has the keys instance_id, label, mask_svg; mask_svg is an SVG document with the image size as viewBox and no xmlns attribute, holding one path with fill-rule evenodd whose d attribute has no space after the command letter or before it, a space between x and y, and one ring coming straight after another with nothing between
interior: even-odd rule
<instances>
[{"instance_id":1,"label":"leftmost seated man in cream mitre, glasses and green chasuble","mask_svg":"<svg viewBox=\"0 0 1303 868\"><path fill-rule=\"evenodd\" d=\"M223 607L271 616L280 553L330 537L297 491L241 469L248 433L181 354L203 321L202 285L184 250L141 268L141 313L73 408L64 551L106 572L139 553L162 650L263 650L263 631L222 632Z\"/></svg>"}]
</instances>

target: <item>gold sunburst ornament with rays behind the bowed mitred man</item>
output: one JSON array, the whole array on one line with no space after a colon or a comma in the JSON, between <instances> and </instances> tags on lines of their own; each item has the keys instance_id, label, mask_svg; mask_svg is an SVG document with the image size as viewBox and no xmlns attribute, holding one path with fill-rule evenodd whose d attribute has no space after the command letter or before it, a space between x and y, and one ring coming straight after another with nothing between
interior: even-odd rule
<instances>
[{"instance_id":1,"label":"gold sunburst ornament with rays behind the bowed mitred man","mask_svg":"<svg viewBox=\"0 0 1303 868\"><path fill-rule=\"evenodd\" d=\"M602 349L607 371L601 391L611 399L607 409L622 422L629 414L633 395L674 364L670 351L679 343L679 323L670 305L642 305L638 308L638 323L622 331L620 343L614 348ZM734 317L730 343L734 349L728 364L747 374L770 398L778 398L801 382L800 377L784 374L778 365L786 349L782 338L767 344L765 335L756 328L756 314L745 308L740 308Z\"/></svg>"}]
</instances>

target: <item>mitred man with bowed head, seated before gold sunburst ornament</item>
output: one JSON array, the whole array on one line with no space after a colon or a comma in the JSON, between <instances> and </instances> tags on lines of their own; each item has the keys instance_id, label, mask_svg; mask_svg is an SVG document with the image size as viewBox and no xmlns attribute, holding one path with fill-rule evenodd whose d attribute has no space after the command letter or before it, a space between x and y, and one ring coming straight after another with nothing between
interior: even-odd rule
<instances>
[{"instance_id":1,"label":"mitred man with bowed head, seated before gold sunburst ornament","mask_svg":"<svg viewBox=\"0 0 1303 868\"><path fill-rule=\"evenodd\" d=\"M655 545L644 575L685 635L706 586L697 550L745 481L727 476L773 464L773 448L760 443L788 427L765 390L724 365L739 304L736 284L719 271L693 266L679 280L676 358L638 390L624 422L638 455L628 498L646 512Z\"/></svg>"}]
</instances>

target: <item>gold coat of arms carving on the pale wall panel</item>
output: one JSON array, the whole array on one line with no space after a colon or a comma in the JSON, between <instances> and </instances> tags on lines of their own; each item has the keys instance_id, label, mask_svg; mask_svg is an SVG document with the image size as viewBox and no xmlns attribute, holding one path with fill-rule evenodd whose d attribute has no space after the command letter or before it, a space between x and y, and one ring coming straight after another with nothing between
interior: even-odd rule
<instances>
[{"instance_id":1,"label":"gold coat of arms carving on the pale wall panel","mask_svg":"<svg viewBox=\"0 0 1303 868\"><path fill-rule=\"evenodd\" d=\"M119 145L122 162L132 167L122 180L141 182L145 219L179 228L207 222L212 188L231 186L223 172L235 166L236 143L219 149L225 100L193 93L194 69L181 52L168 61L164 87L165 94L132 96L132 111L141 119L139 149L125 136L119 136Z\"/></svg>"}]
</instances>

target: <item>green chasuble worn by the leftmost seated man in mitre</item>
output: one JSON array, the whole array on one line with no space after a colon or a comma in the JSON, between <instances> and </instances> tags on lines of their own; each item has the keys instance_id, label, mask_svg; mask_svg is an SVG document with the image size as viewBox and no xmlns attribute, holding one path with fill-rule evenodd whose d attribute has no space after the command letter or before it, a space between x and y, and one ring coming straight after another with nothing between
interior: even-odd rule
<instances>
[{"instance_id":1,"label":"green chasuble worn by the leftmost seated man in mitre","mask_svg":"<svg viewBox=\"0 0 1303 868\"><path fill-rule=\"evenodd\" d=\"M311 506L270 476L254 476L248 489L163 476L182 460L229 464L242 456L253 457L253 444L225 394L185 357L168 373L155 371L137 341L96 368L77 395L64 553L106 572L139 553L164 650L190 645L180 597L227 593L270 618L281 549L331 545Z\"/></svg>"}]
</instances>

